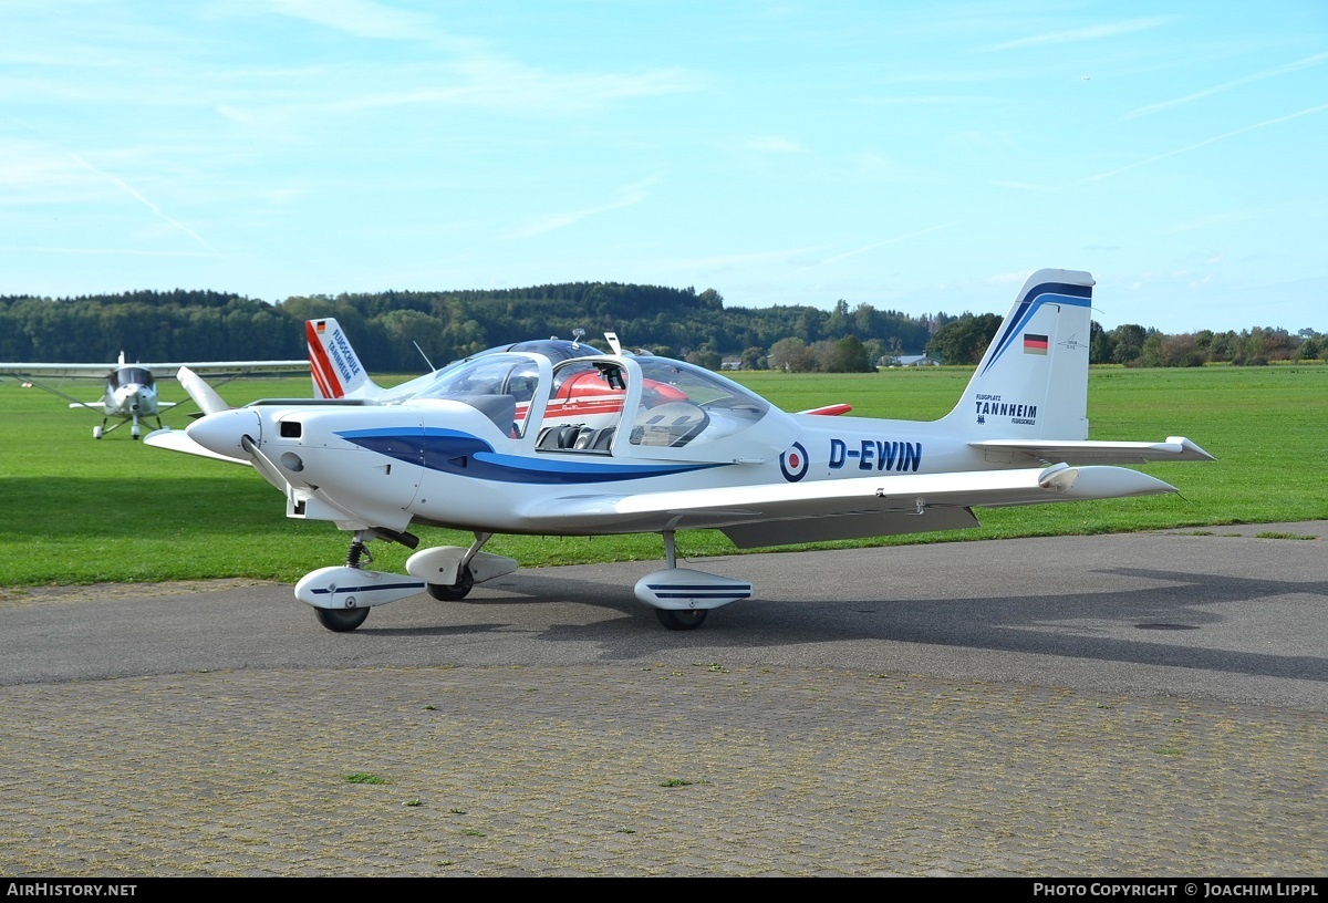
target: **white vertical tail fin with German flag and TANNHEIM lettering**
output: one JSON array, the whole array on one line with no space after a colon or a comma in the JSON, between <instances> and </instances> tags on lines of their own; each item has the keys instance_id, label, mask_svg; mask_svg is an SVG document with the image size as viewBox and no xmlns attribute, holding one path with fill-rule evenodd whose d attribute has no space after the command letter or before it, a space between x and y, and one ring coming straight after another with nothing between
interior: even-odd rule
<instances>
[{"instance_id":1,"label":"white vertical tail fin with German flag and TANNHEIM lettering","mask_svg":"<svg viewBox=\"0 0 1328 903\"><path fill-rule=\"evenodd\" d=\"M980 440L1088 438L1093 276L1038 270L946 424Z\"/></svg>"}]
</instances>

